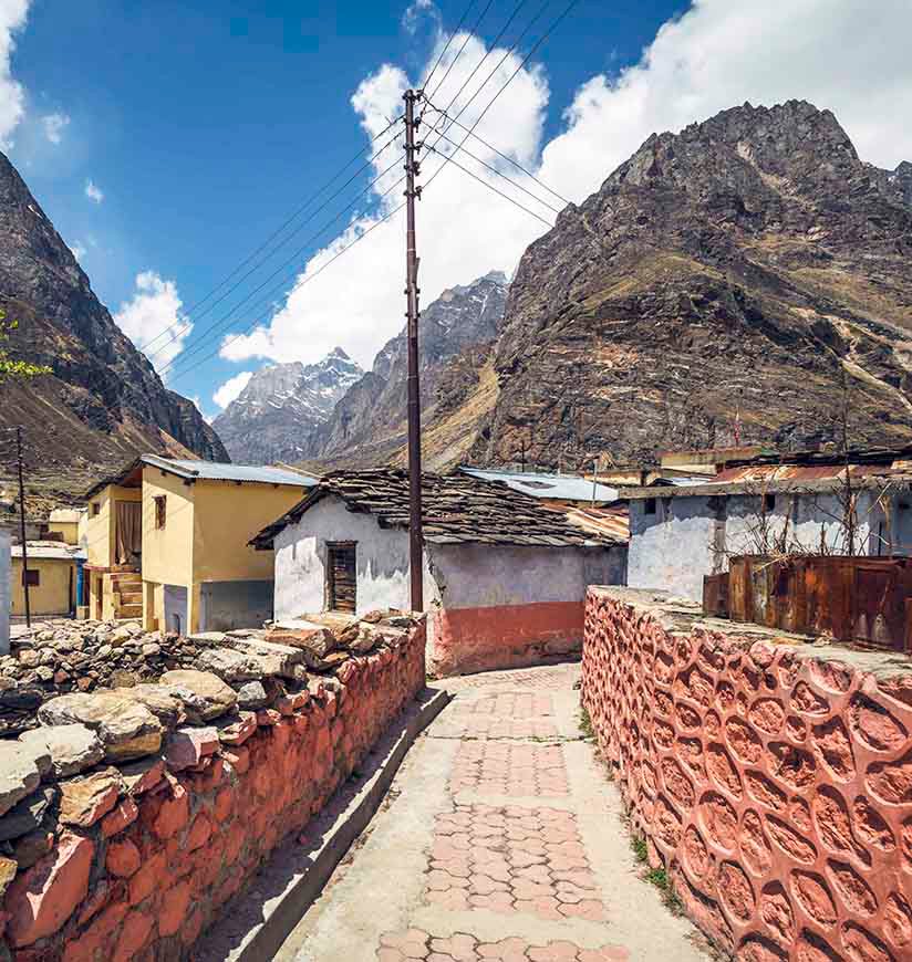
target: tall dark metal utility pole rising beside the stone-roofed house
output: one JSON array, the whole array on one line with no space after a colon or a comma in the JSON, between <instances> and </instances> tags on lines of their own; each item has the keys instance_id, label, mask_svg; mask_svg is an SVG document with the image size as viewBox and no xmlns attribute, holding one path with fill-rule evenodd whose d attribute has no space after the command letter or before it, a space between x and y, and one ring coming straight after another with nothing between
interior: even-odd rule
<instances>
[{"instance_id":1,"label":"tall dark metal utility pole rising beside the stone-roofed house","mask_svg":"<svg viewBox=\"0 0 912 962\"><path fill-rule=\"evenodd\" d=\"M422 532L422 411L418 385L418 255L415 248L415 199L421 187L415 178L421 172L415 130L415 102L421 93L407 90L405 101L405 295L408 299L408 571L412 583L412 610L424 610L422 584L424 535Z\"/></svg>"}]
</instances>

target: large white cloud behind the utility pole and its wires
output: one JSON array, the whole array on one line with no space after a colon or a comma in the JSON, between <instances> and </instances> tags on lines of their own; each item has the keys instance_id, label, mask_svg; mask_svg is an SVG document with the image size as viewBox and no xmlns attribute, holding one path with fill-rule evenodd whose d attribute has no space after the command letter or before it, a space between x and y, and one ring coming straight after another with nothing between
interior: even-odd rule
<instances>
[{"instance_id":1,"label":"large white cloud behind the utility pole and its wires","mask_svg":"<svg viewBox=\"0 0 912 962\"><path fill-rule=\"evenodd\" d=\"M457 36L445 56L437 76L443 76L449 60L462 45ZM444 90L436 100L446 106L487 49L476 38L470 38L463 55L446 79ZM433 63L439 50L432 53ZM467 92L459 98L464 104L495 69L505 51L498 50L485 61L473 77ZM519 65L520 59L510 55L498 67L484 92L471 103L462 121L471 125L497 91ZM385 65L367 77L352 97L352 105L361 123L371 135L388 124L388 118L402 109L402 93L408 77L398 67ZM535 163L538 154L543 109L548 101L548 84L539 70L524 70L506 88L481 121L478 133L489 143L509 150L524 164ZM458 109L458 106L457 106ZM431 118L431 114L427 115ZM434 140L435 135L423 128L421 136ZM458 143L455 132L453 138ZM376 142L382 145L384 139ZM468 145L467 145L468 146ZM450 149L445 142L442 149ZM493 166L511 169L477 142L473 153ZM375 161L377 171L393 159L393 148L384 151ZM460 158L465 164L490 180L475 161ZM442 157L427 155L423 160L423 181L426 184L441 167ZM379 185L384 190L401 176L398 165ZM520 175L520 179L522 175ZM504 190L517 200L524 195L501 181ZM535 189L535 185L532 185ZM525 198L541 216L552 219L547 207ZM402 202L402 188L396 187L380 201L380 216ZM374 355L404 323L405 299L403 296L405 227L403 212L380 226L375 217L355 218L348 229L303 265L303 269L284 304L268 325L259 326L249 335L222 344L221 356L231 360L249 357L268 357L274 360L318 360L336 344L362 365L370 366ZM340 259L338 264L321 270L343 247L360 233L372 229L370 237L357 242ZM526 245L547 228L528 213L499 200L490 191L476 184L452 164L425 191L418 205L418 243L421 245L422 302L426 306L443 290L465 283L491 270L514 270Z\"/></svg>"}]
</instances>

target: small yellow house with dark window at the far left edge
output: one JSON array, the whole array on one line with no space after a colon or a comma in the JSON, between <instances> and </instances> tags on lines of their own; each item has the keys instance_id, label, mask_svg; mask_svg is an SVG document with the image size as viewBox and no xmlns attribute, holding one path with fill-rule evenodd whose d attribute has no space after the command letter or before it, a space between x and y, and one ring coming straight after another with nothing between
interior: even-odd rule
<instances>
[{"instance_id":1,"label":"small yellow house with dark window at the far left edge","mask_svg":"<svg viewBox=\"0 0 912 962\"><path fill-rule=\"evenodd\" d=\"M28 575L22 576L22 545L11 548L12 615L25 614L25 587L29 583L29 609L32 617L69 617L76 606L77 564L80 550L59 541L25 543Z\"/></svg>"}]
</instances>

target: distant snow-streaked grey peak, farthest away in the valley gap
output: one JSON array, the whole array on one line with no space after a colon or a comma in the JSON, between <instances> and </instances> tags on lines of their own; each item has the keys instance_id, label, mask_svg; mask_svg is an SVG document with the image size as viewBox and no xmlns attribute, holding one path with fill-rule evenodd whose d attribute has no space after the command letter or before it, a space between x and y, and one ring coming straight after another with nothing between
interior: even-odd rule
<instances>
[{"instance_id":1,"label":"distant snow-streaked grey peak, farthest away in the valley gap","mask_svg":"<svg viewBox=\"0 0 912 962\"><path fill-rule=\"evenodd\" d=\"M300 461L335 402L364 374L336 347L318 364L273 364L253 374L213 426L236 461Z\"/></svg>"}]
</instances>

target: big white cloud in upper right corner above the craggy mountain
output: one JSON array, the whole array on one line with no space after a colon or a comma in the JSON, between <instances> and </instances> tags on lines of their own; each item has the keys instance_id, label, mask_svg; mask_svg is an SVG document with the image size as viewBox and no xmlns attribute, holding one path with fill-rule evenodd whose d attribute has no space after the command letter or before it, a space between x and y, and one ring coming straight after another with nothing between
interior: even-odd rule
<instances>
[{"instance_id":1,"label":"big white cloud in upper right corner above the craggy mountain","mask_svg":"<svg viewBox=\"0 0 912 962\"><path fill-rule=\"evenodd\" d=\"M541 176L577 199L654 132L792 98L831 109L862 159L893 168L912 157L910 36L909 0L695 0L640 63L580 87Z\"/></svg>"}]
</instances>

